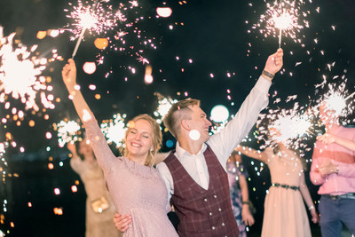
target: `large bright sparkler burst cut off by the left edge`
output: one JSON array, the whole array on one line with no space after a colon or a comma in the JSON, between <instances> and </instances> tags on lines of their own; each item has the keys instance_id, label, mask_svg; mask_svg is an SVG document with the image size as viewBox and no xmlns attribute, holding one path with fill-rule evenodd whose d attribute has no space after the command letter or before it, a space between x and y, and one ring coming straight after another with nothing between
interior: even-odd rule
<instances>
[{"instance_id":1,"label":"large bright sparkler burst cut off by the left edge","mask_svg":"<svg viewBox=\"0 0 355 237\"><path fill-rule=\"evenodd\" d=\"M14 45L14 36L13 33L4 37L0 27L0 102L4 102L6 95L12 95L13 99L20 99L26 108L38 111L36 92L51 91L51 86L46 85L47 78L41 76L49 60L36 59L34 54L37 45L32 46L29 51L21 43ZM61 59L55 50L52 53L53 57ZM42 95L42 102L44 107L54 108L45 94Z\"/></svg>"}]
</instances>

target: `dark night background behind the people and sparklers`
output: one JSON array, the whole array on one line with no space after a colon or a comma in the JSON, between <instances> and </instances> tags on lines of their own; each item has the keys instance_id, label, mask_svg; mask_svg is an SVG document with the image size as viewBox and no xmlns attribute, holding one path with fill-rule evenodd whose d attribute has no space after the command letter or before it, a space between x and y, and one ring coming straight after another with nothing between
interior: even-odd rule
<instances>
[{"instance_id":1,"label":"dark night background behind the people and sparklers","mask_svg":"<svg viewBox=\"0 0 355 237\"><path fill-rule=\"evenodd\" d=\"M111 3L119 2L112 0ZM251 24L256 23L260 14L264 13L264 1L170 0L166 2L166 6L173 13L167 19L154 17L156 7L163 6L162 1L142 0L138 3L142 7L140 14L145 16L145 20L138 22L138 28L143 30L142 36L154 36L157 46L156 50L142 48L144 57L149 59L153 67L153 83L144 83L146 66L138 62L136 55L131 56L128 52L106 50L103 52L106 55L104 64L99 65L93 75L84 74L81 69L83 63L95 61L95 56L99 53L93 44L96 36L85 34L85 41L75 56L78 82L98 120L110 118L117 113L127 114L128 119L143 113L152 115L158 103L154 92L173 99L185 99L187 92L187 97L201 99L201 107L208 115L217 104L228 107L231 114L236 113L261 74L268 55L278 47L276 38L264 38L257 30L247 32L251 29ZM315 11L317 7L319 13ZM59 55L68 59L75 47L75 42L69 41L69 33L55 38L47 36L43 40L36 39L39 30L62 28L70 21L63 12L65 8L67 1L64 0L1 0L0 25L4 27L4 36L18 32L17 37L25 45L39 44L41 56L46 57L48 51L58 49ZM310 99L317 99L314 84L322 82L322 75L327 75L328 82L332 82L331 78L335 75L346 75L349 91L354 91L355 85L355 2L315 0L312 4L307 2L304 9L310 11L307 17L310 28L304 28L297 35L305 36L304 47L289 38L282 38L284 72L275 76L270 90L270 94L277 91L281 101L289 95L297 94L296 101L300 105L307 105ZM129 14L127 16L130 18ZM152 19L148 19L148 16ZM174 26L173 30L169 29L170 25ZM331 26L335 26L335 30ZM314 42L315 38L318 43ZM125 39L128 44L134 45L134 49L142 47L134 34L125 36ZM321 51L324 51L324 55ZM193 63L189 63L189 59L193 59ZM296 66L297 62L302 64ZM335 67L329 71L327 64L333 62ZM55 109L43 111L41 108L37 113L27 111L20 126L16 126L16 122L11 120L0 124L1 138L4 140L4 133L11 132L13 140L18 144L17 147L9 147L4 154L8 166L4 167L7 175L5 182L0 185L0 201L3 205L4 200L7 200L4 205L7 211L0 210L0 214L4 214L4 223L0 224L0 230L10 230L6 236L84 236L83 184L80 181L78 192L71 192L70 187L80 178L69 166L67 149L58 146L56 131L52 126L52 123L64 118L77 118L61 81L60 71L63 66L64 61L57 61L51 63L50 70L44 72L51 75L55 98L61 99L60 103L56 103ZM128 67L135 67L137 73L131 74ZM106 78L109 71L112 73ZM228 77L227 73L232 76ZM125 77L127 81L124 80ZM90 84L97 86L96 91L88 89ZM231 91L230 94L227 90ZM95 99L94 96L98 93L101 99ZM227 99L228 95L231 100ZM270 107L293 105L283 102L275 105L274 99L270 99ZM16 103L21 107L18 101L12 101L12 106ZM40 104L39 106L41 107ZM10 111L0 105L0 116L8 114ZM49 115L50 119L44 120L43 115ZM34 120L36 126L28 126L30 120ZM47 131L51 132L53 138L45 138ZM164 141L169 138L170 134L165 133ZM25 153L19 152L19 146L25 147ZM255 141L248 146L257 147ZM169 149L163 146L162 150ZM311 155L312 151L306 154L306 158ZM54 170L48 169L51 159ZM249 236L259 236L264 194L270 186L270 175L264 169L260 176L256 176L250 160L243 157L243 161L251 178L248 182L250 199L257 211L256 225L250 228ZM62 167L59 162L63 162ZM318 187L308 183L313 200L318 200ZM60 195L54 194L55 187L60 188ZM31 208L28 207L28 201L32 203ZM56 207L63 209L62 216L54 215L53 208ZM14 227L10 226L11 222ZM317 225L312 225L312 234L320 236Z\"/></svg>"}]
</instances>

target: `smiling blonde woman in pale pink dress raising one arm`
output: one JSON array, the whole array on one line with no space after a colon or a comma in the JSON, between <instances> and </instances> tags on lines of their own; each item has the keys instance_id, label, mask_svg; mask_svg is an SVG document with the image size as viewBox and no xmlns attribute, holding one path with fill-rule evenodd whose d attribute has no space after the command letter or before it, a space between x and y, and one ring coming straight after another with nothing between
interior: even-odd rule
<instances>
[{"instance_id":1,"label":"smiling blonde woman in pale pink dress raising one arm","mask_svg":"<svg viewBox=\"0 0 355 237\"><path fill-rule=\"evenodd\" d=\"M73 59L62 70L69 98L82 120L118 213L129 213L132 223L123 236L177 236L167 213L168 192L157 170L154 154L162 144L162 131L149 115L138 115L125 133L123 156L116 157L106 143L90 107L76 84Z\"/></svg>"}]
</instances>

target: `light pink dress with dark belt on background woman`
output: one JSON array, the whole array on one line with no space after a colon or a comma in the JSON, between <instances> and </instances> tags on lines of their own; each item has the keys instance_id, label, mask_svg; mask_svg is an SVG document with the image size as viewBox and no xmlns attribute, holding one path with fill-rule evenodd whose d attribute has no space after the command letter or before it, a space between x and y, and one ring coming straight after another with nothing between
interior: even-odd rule
<instances>
[{"instance_id":1,"label":"light pink dress with dark belt on background woman","mask_svg":"<svg viewBox=\"0 0 355 237\"><path fill-rule=\"evenodd\" d=\"M270 149L270 148L267 148ZM270 153L272 151L270 150ZM274 154L267 161L272 183L300 186L302 162L287 150ZM264 202L262 237L311 237L311 228L299 190L271 186Z\"/></svg>"}]
</instances>

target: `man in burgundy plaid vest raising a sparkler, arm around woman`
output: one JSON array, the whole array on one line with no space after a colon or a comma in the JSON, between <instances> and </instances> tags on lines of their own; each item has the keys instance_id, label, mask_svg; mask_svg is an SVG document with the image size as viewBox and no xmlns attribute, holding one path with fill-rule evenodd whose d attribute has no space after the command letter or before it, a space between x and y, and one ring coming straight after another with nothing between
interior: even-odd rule
<instances>
[{"instance_id":1,"label":"man in burgundy plaid vest raising a sparkler, arm around woman","mask_svg":"<svg viewBox=\"0 0 355 237\"><path fill-rule=\"evenodd\" d=\"M177 146L157 165L157 170L167 186L168 203L176 209L179 236L239 235L232 212L226 162L267 106L268 91L273 75L282 67L282 56L281 49L269 56L256 85L224 130L209 136L211 122L197 99L178 101L165 116L164 125L177 138ZM127 215L114 219L123 232L130 222Z\"/></svg>"}]
</instances>

